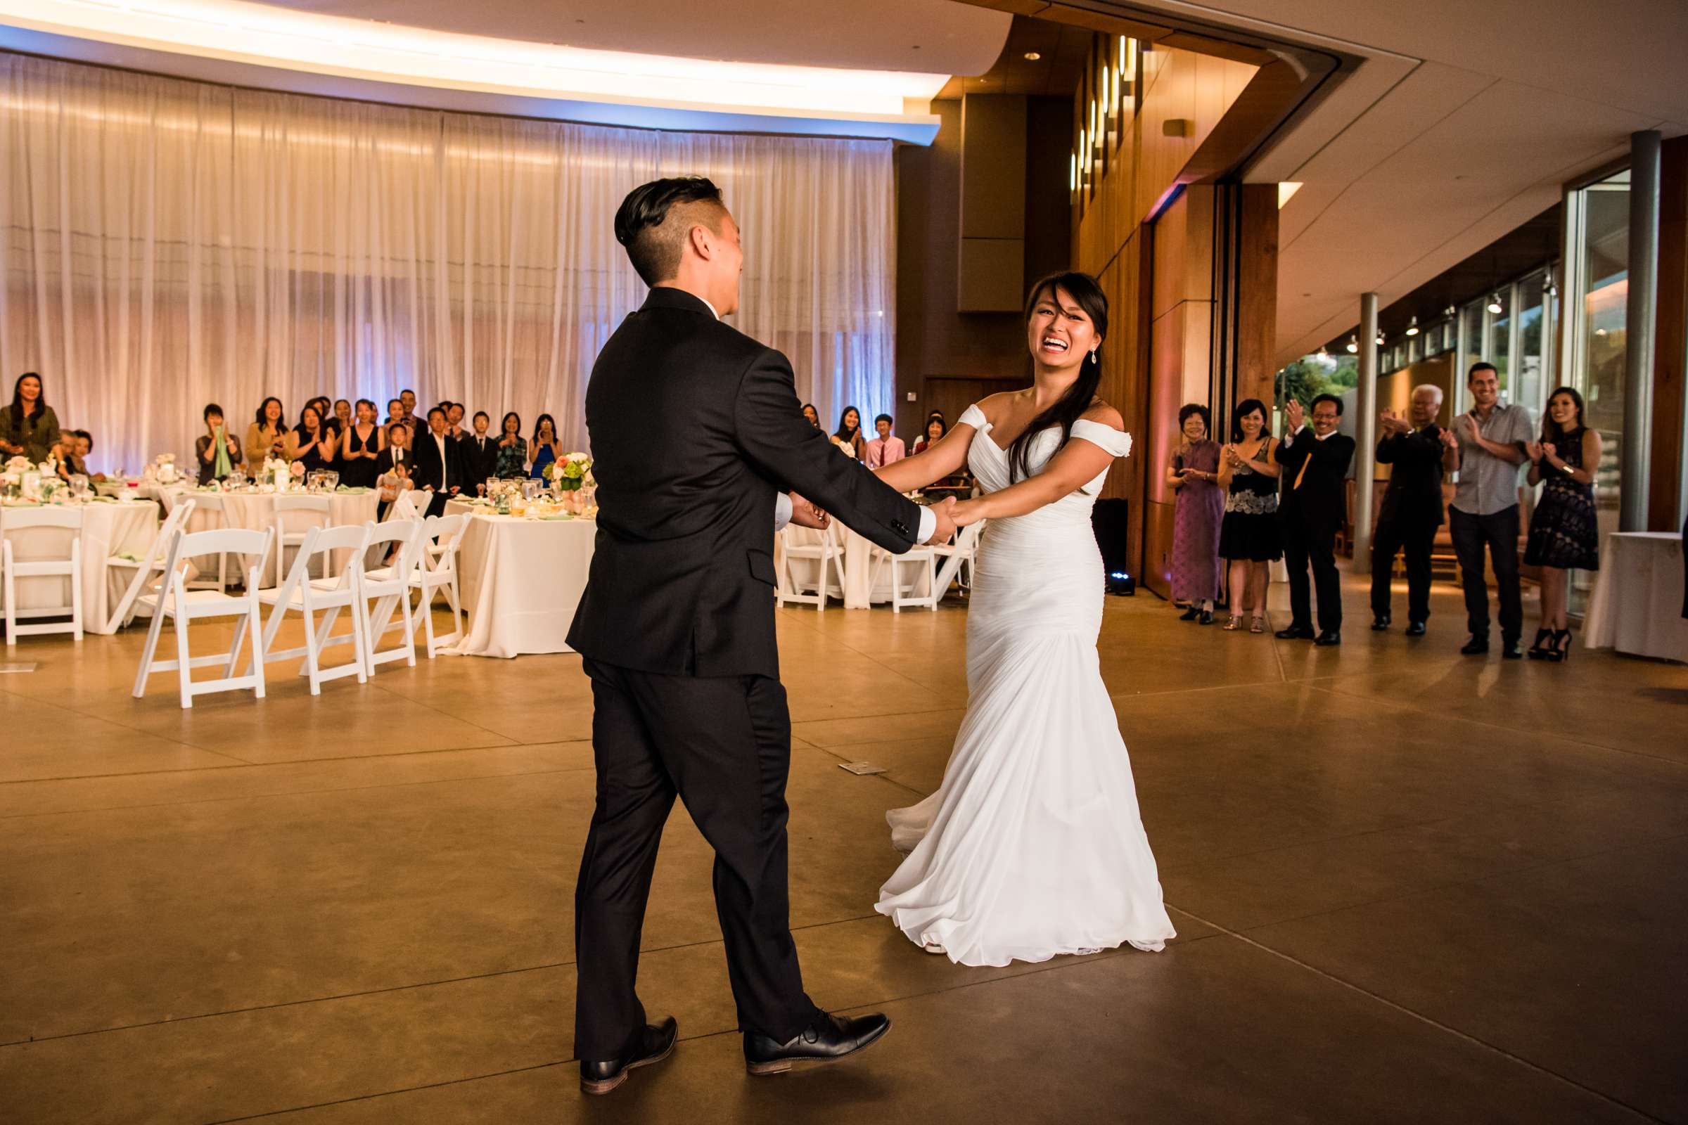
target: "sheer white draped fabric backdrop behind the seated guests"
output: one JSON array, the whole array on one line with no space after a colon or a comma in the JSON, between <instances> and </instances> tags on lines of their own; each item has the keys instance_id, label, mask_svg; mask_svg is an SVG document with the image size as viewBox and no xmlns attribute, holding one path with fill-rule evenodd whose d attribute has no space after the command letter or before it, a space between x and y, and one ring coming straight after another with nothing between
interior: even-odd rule
<instances>
[{"instance_id":1,"label":"sheer white draped fabric backdrop behind the seated guests","mask_svg":"<svg viewBox=\"0 0 1688 1125\"><path fill-rule=\"evenodd\" d=\"M584 447L592 359L645 287L621 197L714 179L741 331L832 428L891 410L891 145L403 110L0 52L0 376L39 371L93 467L186 459L219 403L402 388ZM5 401L10 401L8 398Z\"/></svg>"}]
</instances>

